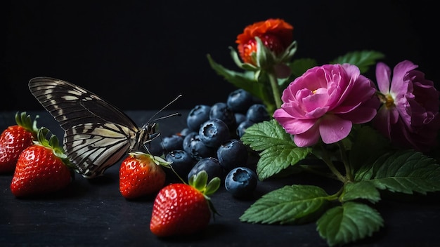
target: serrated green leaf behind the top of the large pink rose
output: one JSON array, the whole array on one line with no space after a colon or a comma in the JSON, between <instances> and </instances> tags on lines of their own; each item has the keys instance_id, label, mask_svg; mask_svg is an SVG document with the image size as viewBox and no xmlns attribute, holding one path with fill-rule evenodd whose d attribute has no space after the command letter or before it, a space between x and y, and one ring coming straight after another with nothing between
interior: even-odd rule
<instances>
[{"instance_id":1,"label":"serrated green leaf behind the top of the large pink rose","mask_svg":"<svg viewBox=\"0 0 440 247\"><path fill-rule=\"evenodd\" d=\"M351 53L347 53L342 55L335 60L333 60L332 64L342 64L349 63L351 65L356 65L361 70L361 74L368 71L368 68L371 65L376 64L376 60L380 60L384 58L385 55L377 52L377 51L354 51Z\"/></svg>"}]
</instances>

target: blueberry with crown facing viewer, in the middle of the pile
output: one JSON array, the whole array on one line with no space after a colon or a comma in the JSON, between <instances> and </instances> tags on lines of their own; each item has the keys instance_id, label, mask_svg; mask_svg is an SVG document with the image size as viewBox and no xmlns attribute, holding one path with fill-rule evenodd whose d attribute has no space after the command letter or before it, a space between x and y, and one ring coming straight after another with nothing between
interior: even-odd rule
<instances>
[{"instance_id":1,"label":"blueberry with crown facing viewer, in the middle of the pile","mask_svg":"<svg viewBox=\"0 0 440 247\"><path fill-rule=\"evenodd\" d=\"M229 128L220 119L210 119L200 126L199 138L208 147L217 148L230 138Z\"/></svg>"}]
</instances>

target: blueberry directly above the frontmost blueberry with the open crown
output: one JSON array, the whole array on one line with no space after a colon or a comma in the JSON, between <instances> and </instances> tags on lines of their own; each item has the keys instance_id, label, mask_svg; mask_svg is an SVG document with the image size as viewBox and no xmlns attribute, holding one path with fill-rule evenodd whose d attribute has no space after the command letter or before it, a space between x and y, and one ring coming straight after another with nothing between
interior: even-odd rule
<instances>
[{"instance_id":1,"label":"blueberry directly above the frontmost blueberry with the open crown","mask_svg":"<svg viewBox=\"0 0 440 247\"><path fill-rule=\"evenodd\" d=\"M226 172L238 166L246 166L247 147L241 140L228 140L217 149L217 159Z\"/></svg>"}]
</instances>

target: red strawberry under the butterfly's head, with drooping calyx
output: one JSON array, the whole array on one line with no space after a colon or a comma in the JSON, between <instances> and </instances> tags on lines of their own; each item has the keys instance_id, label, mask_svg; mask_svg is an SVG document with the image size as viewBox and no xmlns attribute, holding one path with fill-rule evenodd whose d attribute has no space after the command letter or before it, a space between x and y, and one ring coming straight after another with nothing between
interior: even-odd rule
<instances>
[{"instance_id":1,"label":"red strawberry under the butterfly's head, with drooping calyx","mask_svg":"<svg viewBox=\"0 0 440 247\"><path fill-rule=\"evenodd\" d=\"M135 199L158 192L165 185L165 172L160 166L169 166L164 159L131 152L119 168L119 191L126 199Z\"/></svg>"}]
</instances>

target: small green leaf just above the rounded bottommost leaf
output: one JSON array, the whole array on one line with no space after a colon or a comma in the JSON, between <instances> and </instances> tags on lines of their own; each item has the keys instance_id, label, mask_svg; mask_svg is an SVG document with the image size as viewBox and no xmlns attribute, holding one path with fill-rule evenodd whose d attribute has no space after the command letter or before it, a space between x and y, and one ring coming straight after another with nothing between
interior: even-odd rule
<instances>
[{"instance_id":1,"label":"small green leaf just above the rounded bottommost leaf","mask_svg":"<svg viewBox=\"0 0 440 247\"><path fill-rule=\"evenodd\" d=\"M380 201L380 192L369 181L350 182L344 185L341 201L353 201L356 199L366 199L371 203Z\"/></svg>"}]
</instances>

